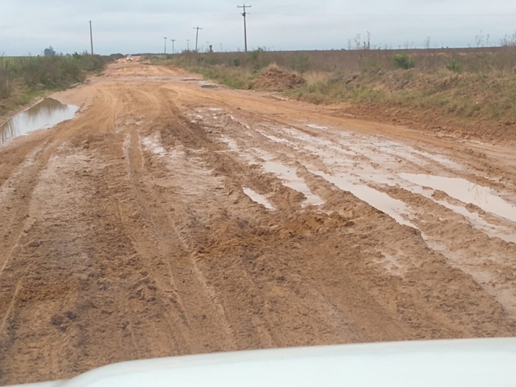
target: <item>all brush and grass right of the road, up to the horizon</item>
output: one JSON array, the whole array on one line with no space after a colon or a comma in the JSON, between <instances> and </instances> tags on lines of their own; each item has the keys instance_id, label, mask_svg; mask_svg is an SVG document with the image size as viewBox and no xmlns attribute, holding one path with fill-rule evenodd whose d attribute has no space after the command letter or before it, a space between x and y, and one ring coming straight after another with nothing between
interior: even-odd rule
<instances>
[{"instance_id":1,"label":"all brush and grass right of the road, up to the horizon","mask_svg":"<svg viewBox=\"0 0 516 387\"><path fill-rule=\"evenodd\" d=\"M516 122L516 36L499 47L466 49L369 49L251 53L185 52L147 56L232 88L259 89L270 68L295 73L305 83L278 89L316 104L373 104L431 110L460 118ZM512 122L512 123L514 123Z\"/></svg>"}]
</instances>

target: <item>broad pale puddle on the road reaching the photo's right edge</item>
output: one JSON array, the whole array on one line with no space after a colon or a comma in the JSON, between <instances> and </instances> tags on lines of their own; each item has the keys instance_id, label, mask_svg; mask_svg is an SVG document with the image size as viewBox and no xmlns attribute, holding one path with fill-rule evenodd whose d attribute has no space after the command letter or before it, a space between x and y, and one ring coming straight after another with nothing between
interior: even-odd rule
<instances>
[{"instance_id":1,"label":"broad pale puddle on the road reaching the photo's right edge","mask_svg":"<svg viewBox=\"0 0 516 387\"><path fill-rule=\"evenodd\" d=\"M461 178L447 178L425 174L399 173L401 179L423 187L430 187L446 193L463 203L472 203L484 211L516 222L516 206L495 195L489 187L483 187Z\"/></svg>"}]
</instances>

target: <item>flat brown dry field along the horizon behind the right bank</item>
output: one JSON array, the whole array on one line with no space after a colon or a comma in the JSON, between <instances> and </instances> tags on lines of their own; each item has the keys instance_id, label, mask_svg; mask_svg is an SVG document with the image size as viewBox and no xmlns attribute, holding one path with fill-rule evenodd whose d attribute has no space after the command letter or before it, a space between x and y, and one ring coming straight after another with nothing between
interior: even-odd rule
<instances>
[{"instance_id":1,"label":"flat brown dry field along the horizon behind the right bank","mask_svg":"<svg viewBox=\"0 0 516 387\"><path fill-rule=\"evenodd\" d=\"M394 56L407 54L416 68L424 72L446 69L455 61L464 72L513 72L516 64L516 46L479 47L466 49L413 49L413 50L334 50L334 51L254 51L251 53L184 53L155 55L155 63L176 62L183 66L250 67L263 69L276 63L282 69L305 73L357 72L394 70Z\"/></svg>"}]
</instances>

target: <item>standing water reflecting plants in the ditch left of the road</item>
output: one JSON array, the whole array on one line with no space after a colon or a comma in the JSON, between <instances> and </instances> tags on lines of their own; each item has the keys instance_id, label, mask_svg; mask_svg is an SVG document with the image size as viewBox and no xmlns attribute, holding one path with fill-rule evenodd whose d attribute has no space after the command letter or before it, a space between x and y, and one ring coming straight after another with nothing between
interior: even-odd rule
<instances>
[{"instance_id":1,"label":"standing water reflecting plants in the ditch left of the road","mask_svg":"<svg viewBox=\"0 0 516 387\"><path fill-rule=\"evenodd\" d=\"M45 98L0 126L0 145L10 138L69 120L75 115L77 109L77 106L65 105L53 98Z\"/></svg>"}]
</instances>

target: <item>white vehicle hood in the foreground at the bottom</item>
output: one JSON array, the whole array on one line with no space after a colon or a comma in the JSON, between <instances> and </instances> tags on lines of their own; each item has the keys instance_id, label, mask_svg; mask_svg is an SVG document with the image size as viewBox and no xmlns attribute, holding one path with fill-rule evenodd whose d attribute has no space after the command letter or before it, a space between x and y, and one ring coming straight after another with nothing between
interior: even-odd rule
<instances>
[{"instance_id":1,"label":"white vehicle hood in the foreground at the bottom","mask_svg":"<svg viewBox=\"0 0 516 387\"><path fill-rule=\"evenodd\" d=\"M514 387L516 338L356 344L112 364L24 387Z\"/></svg>"}]
</instances>

